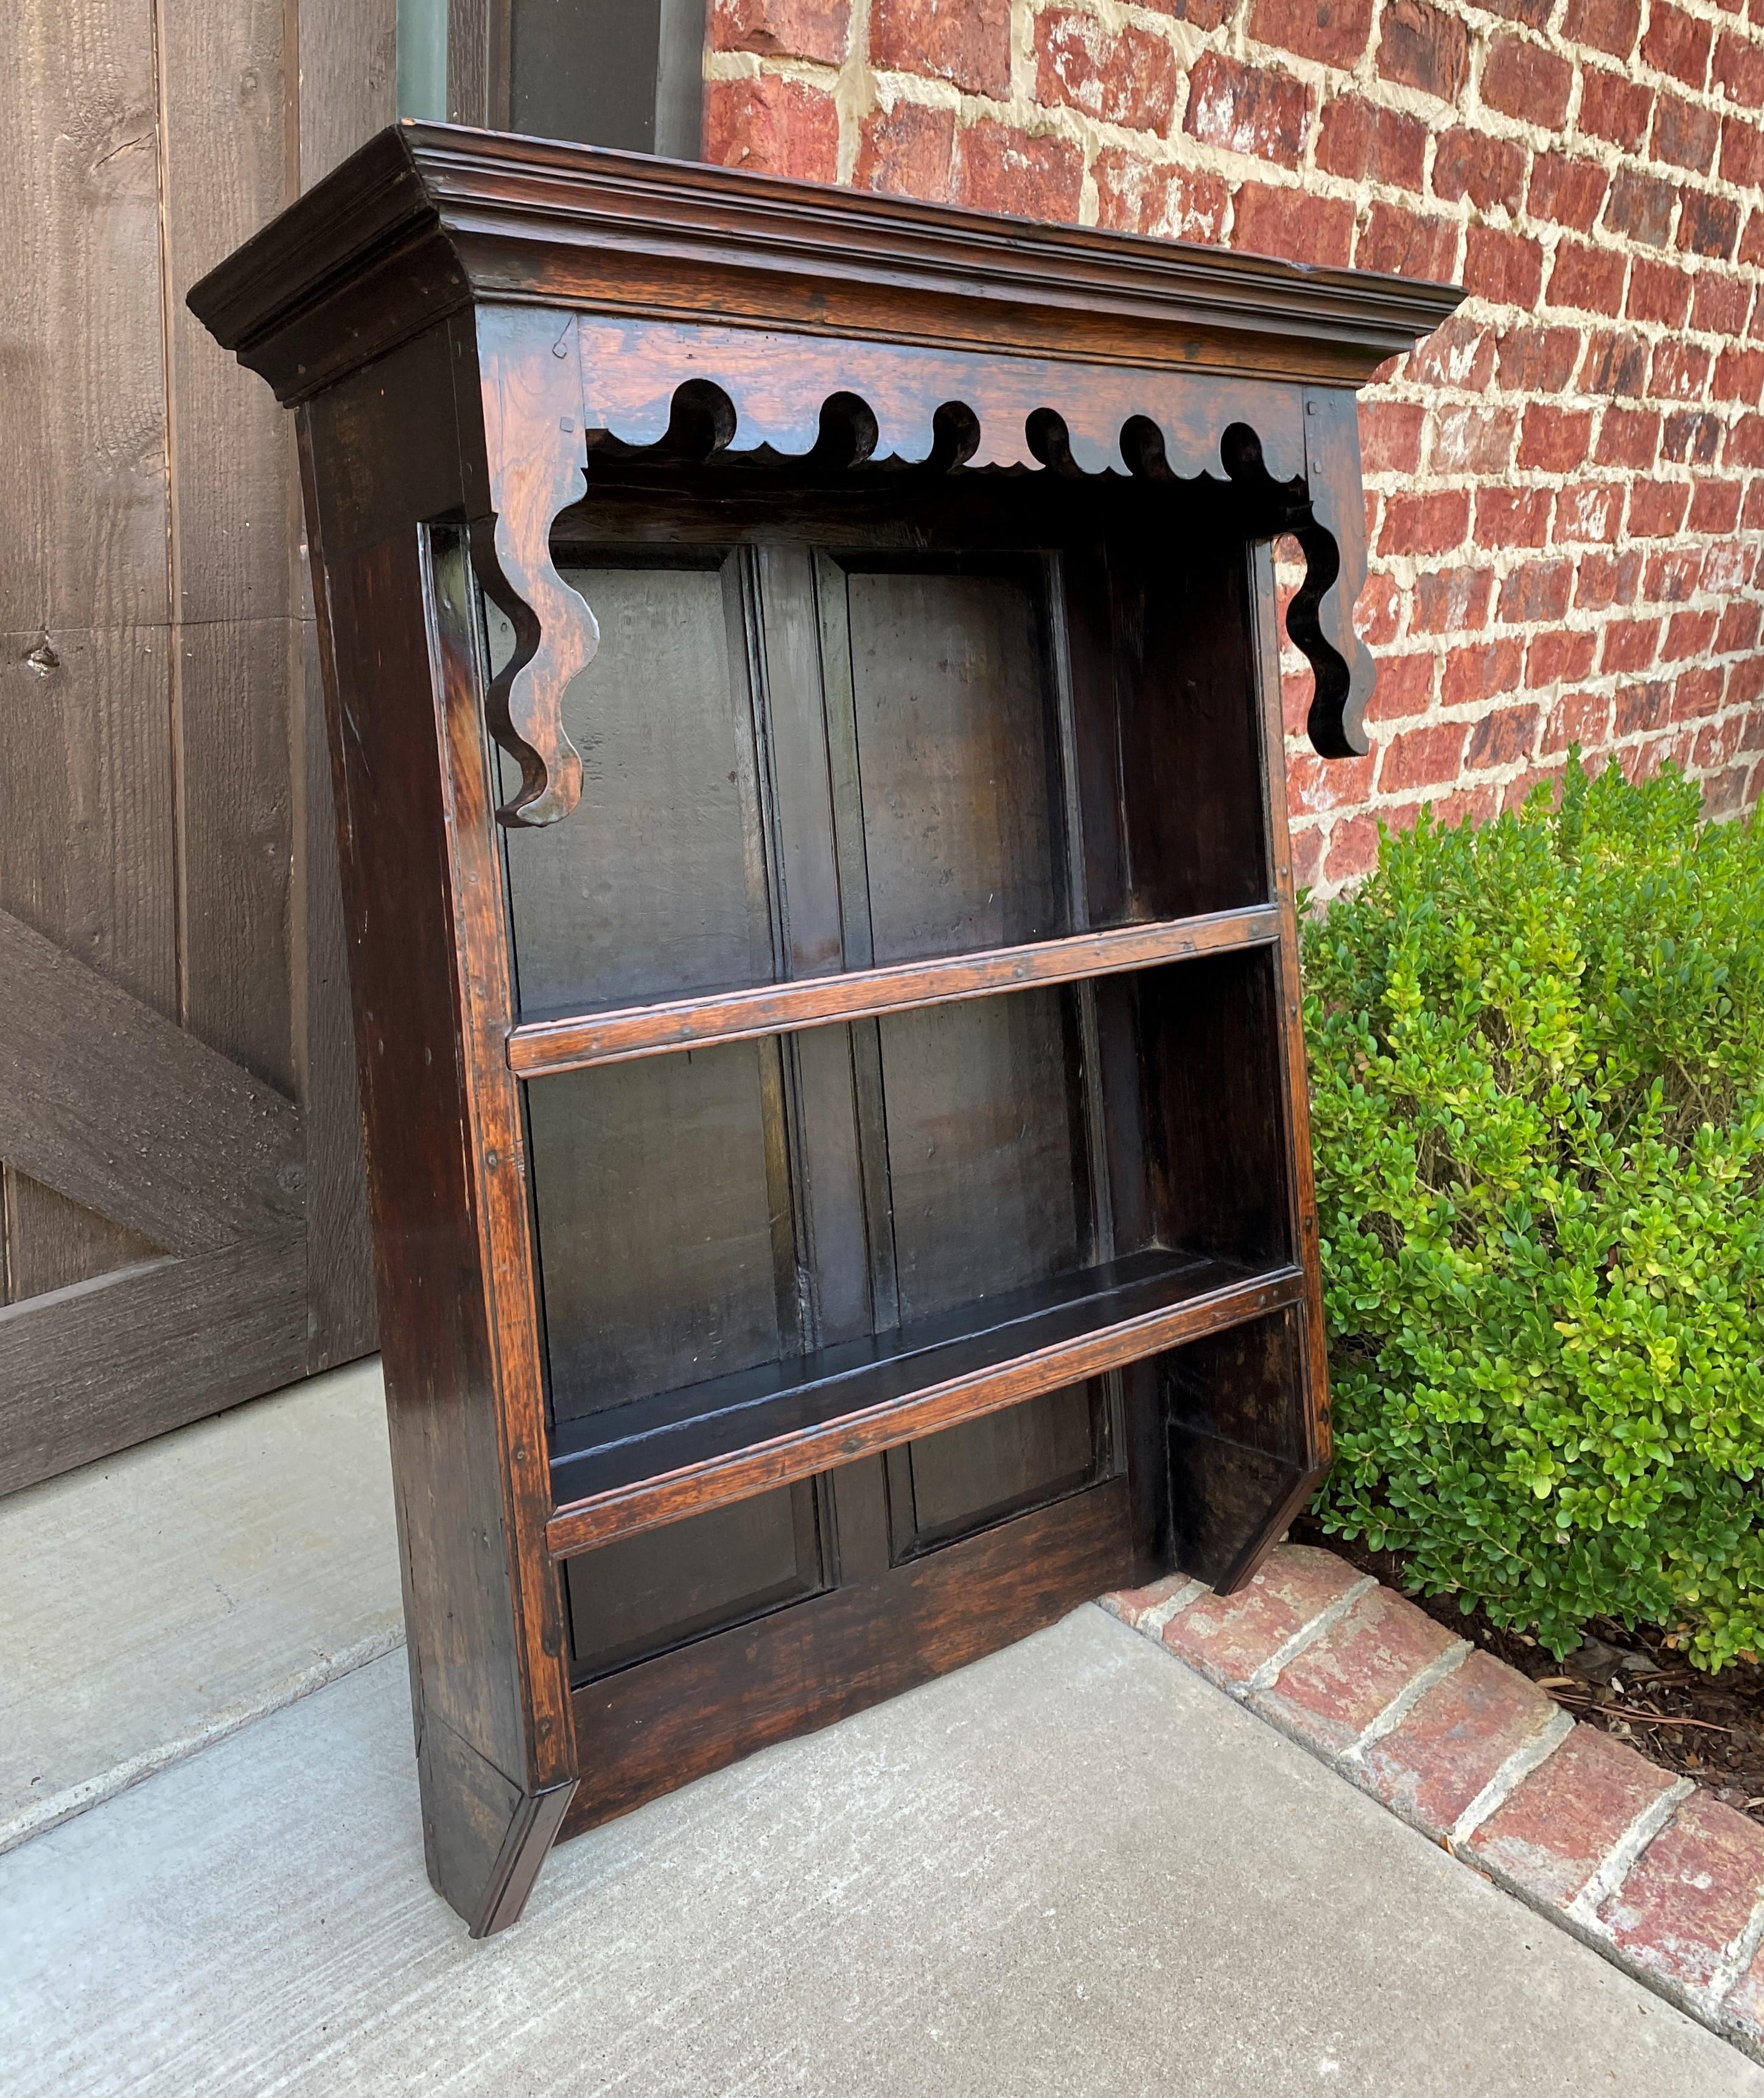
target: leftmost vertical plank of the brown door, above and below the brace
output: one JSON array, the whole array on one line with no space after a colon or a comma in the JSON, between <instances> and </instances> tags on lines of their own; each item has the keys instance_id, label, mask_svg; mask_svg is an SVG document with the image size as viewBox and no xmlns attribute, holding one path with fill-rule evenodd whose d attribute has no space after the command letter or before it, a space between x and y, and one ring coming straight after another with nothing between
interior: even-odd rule
<instances>
[{"instance_id":1,"label":"leftmost vertical plank of the brown door, above and below the brace","mask_svg":"<svg viewBox=\"0 0 1764 2098\"><path fill-rule=\"evenodd\" d=\"M147 0L0 29L0 908L176 1009L159 168ZM76 816L78 812L78 816ZM0 1166L0 1303L141 1259Z\"/></svg>"}]
</instances>

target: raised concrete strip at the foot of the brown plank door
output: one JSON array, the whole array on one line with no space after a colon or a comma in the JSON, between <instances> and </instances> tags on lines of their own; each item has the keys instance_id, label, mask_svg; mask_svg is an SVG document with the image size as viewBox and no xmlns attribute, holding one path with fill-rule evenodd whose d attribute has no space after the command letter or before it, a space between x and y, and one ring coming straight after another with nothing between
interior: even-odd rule
<instances>
[{"instance_id":1,"label":"raised concrete strip at the foot of the brown plank door","mask_svg":"<svg viewBox=\"0 0 1764 2098\"><path fill-rule=\"evenodd\" d=\"M0 1500L0 1850L405 1641L380 1364Z\"/></svg>"}]
</instances>

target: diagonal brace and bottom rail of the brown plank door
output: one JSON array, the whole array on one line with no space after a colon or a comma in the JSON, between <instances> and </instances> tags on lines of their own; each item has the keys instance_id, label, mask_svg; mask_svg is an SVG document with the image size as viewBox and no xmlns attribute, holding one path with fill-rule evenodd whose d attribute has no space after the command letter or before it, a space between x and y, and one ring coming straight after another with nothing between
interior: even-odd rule
<instances>
[{"instance_id":1,"label":"diagonal brace and bottom rail of the brown plank door","mask_svg":"<svg viewBox=\"0 0 1764 2098\"><path fill-rule=\"evenodd\" d=\"M6 1494L292 1383L308 1313L300 1110L4 911L0 980L0 1154L168 1248L0 1309Z\"/></svg>"}]
</instances>

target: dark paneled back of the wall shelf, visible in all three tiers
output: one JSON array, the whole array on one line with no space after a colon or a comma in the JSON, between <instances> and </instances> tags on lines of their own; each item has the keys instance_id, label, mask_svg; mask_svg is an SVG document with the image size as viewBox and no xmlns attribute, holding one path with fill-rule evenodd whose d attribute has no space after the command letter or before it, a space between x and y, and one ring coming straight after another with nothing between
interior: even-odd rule
<instances>
[{"instance_id":1,"label":"dark paneled back of the wall shelf, visible in all three tiers","mask_svg":"<svg viewBox=\"0 0 1764 2098\"><path fill-rule=\"evenodd\" d=\"M965 499L583 508L583 801L505 837L522 1015L1271 898L1242 539ZM533 1078L558 1498L1290 1263L1277 1028L1259 948ZM1160 1404L1080 1376L854 1473L904 1563L1112 1477ZM835 1477L571 1559L579 1676L849 1578Z\"/></svg>"}]
</instances>

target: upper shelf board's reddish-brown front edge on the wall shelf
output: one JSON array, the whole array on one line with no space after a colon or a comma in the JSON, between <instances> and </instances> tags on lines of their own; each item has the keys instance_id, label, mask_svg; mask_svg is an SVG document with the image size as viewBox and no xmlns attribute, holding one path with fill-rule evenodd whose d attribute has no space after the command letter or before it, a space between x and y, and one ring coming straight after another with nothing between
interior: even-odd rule
<instances>
[{"instance_id":1,"label":"upper shelf board's reddish-brown front edge on the wall shelf","mask_svg":"<svg viewBox=\"0 0 1764 2098\"><path fill-rule=\"evenodd\" d=\"M753 1041L793 1028L870 1020L877 1013L950 1005L1034 984L1070 984L1087 976L1118 976L1196 955L1223 955L1279 940L1279 911L1210 911L1204 917L1156 919L1082 932L1063 940L946 955L935 961L896 963L885 969L849 969L793 984L757 984L713 990L661 1005L627 1005L604 1013L526 1020L510 1032L508 1062L520 1078L545 1078L589 1064L625 1064L707 1043Z\"/></svg>"}]
</instances>

